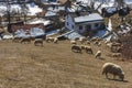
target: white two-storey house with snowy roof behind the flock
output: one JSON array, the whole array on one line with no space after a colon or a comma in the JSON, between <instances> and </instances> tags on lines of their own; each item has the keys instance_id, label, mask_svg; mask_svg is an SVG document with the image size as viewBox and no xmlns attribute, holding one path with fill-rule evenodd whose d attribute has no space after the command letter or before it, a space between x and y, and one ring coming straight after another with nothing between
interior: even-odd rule
<instances>
[{"instance_id":1,"label":"white two-storey house with snowy roof behind the flock","mask_svg":"<svg viewBox=\"0 0 132 88\"><path fill-rule=\"evenodd\" d=\"M102 25L103 18L98 13L69 13L65 18L65 26L82 35L90 35L92 32L101 30Z\"/></svg>"}]
</instances>

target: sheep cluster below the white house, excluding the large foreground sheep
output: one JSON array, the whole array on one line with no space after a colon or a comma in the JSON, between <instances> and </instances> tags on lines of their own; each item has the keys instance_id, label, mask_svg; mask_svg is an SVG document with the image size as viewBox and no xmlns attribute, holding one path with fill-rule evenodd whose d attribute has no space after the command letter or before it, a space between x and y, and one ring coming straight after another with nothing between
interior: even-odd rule
<instances>
[{"instance_id":1,"label":"sheep cluster below the white house, excluding the large foreground sheep","mask_svg":"<svg viewBox=\"0 0 132 88\"><path fill-rule=\"evenodd\" d=\"M79 42L79 44L78 44ZM121 52L122 52L122 47L123 45L121 43L118 43L118 42L110 42L110 41L105 41L100 37L92 37L92 38L89 38L89 37L79 37L79 38L75 38L75 40L72 40L70 41L70 44L72 44L72 51L73 52L77 52L77 53L81 53L82 50L86 51L86 53L88 54L94 54L94 48L91 47L91 44L92 46L98 46L99 50L97 51L97 53L95 54L95 57L96 58L100 58L101 57L101 45L102 43L106 45L107 48L109 48L111 51L111 53L108 54L108 56L111 56L111 57L121 57Z\"/></svg>"}]
</instances>

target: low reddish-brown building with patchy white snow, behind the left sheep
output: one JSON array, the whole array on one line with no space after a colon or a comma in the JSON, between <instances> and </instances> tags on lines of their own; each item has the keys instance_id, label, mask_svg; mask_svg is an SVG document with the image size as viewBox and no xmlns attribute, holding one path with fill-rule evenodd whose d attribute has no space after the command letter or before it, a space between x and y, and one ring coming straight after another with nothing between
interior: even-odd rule
<instances>
[{"instance_id":1,"label":"low reddish-brown building with patchy white snow, behind the left sheep","mask_svg":"<svg viewBox=\"0 0 132 88\"><path fill-rule=\"evenodd\" d=\"M18 37L45 37L44 24L12 25L12 33Z\"/></svg>"}]
</instances>

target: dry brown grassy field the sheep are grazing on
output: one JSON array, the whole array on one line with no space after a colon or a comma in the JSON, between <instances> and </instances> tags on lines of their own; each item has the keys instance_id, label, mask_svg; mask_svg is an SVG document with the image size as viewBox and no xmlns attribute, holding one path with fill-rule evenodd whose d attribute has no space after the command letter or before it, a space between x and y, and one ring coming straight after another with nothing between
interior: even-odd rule
<instances>
[{"instance_id":1,"label":"dry brown grassy field the sheep are grazing on","mask_svg":"<svg viewBox=\"0 0 132 88\"><path fill-rule=\"evenodd\" d=\"M109 50L91 45L94 53L102 50L102 58L70 51L69 41L44 46L0 42L0 88L132 88L132 63L108 57ZM124 81L108 80L101 66L112 62L121 65Z\"/></svg>"}]
</instances>

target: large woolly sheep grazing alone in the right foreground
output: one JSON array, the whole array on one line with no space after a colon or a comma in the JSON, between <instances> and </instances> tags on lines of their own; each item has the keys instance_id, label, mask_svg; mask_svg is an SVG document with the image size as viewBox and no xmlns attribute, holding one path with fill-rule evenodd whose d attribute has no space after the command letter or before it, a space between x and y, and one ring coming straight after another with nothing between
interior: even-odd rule
<instances>
[{"instance_id":1,"label":"large woolly sheep grazing alone in the right foreground","mask_svg":"<svg viewBox=\"0 0 132 88\"><path fill-rule=\"evenodd\" d=\"M116 78L116 76L119 76L119 79L123 80L124 79L124 73L122 70L122 68L113 63L106 63L102 66L102 75L106 75L106 77L108 78L108 74L112 74L113 78Z\"/></svg>"}]
</instances>

